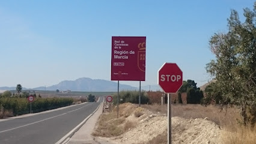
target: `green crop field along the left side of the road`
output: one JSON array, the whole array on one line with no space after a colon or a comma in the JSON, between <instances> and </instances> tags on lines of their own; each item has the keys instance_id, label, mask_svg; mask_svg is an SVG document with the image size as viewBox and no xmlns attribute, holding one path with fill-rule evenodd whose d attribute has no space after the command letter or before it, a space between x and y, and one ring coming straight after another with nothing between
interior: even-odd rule
<instances>
[{"instance_id":1,"label":"green crop field along the left side of the road","mask_svg":"<svg viewBox=\"0 0 256 144\"><path fill-rule=\"evenodd\" d=\"M114 92L56 92L56 91L22 91L29 94L36 94L32 102L32 113L44 110L56 109L58 107L69 106L74 103L84 103L88 95L95 95L97 98L112 95ZM16 91L11 91L15 93ZM41 98L39 97L41 96ZM0 98L0 119L11 116L24 115L30 113L30 104L27 98L6 97Z\"/></svg>"}]
</instances>

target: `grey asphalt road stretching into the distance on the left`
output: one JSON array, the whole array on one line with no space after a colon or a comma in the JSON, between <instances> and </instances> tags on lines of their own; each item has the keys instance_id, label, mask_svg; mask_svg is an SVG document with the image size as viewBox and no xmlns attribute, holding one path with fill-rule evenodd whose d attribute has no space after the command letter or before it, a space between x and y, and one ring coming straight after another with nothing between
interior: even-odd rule
<instances>
[{"instance_id":1,"label":"grey asphalt road stretching into the distance on the left","mask_svg":"<svg viewBox=\"0 0 256 144\"><path fill-rule=\"evenodd\" d=\"M51 144L56 143L87 116L99 103L84 103L49 113L0 122L0 143Z\"/></svg>"}]
</instances>

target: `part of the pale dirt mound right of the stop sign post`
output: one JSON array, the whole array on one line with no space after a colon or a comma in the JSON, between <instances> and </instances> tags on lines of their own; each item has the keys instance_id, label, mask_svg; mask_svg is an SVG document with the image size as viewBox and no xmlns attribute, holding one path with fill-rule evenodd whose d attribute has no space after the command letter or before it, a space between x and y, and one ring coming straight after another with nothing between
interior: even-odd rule
<instances>
[{"instance_id":1,"label":"part of the pale dirt mound right of the stop sign post","mask_svg":"<svg viewBox=\"0 0 256 144\"><path fill-rule=\"evenodd\" d=\"M221 129L207 119L172 118L172 143L222 143Z\"/></svg>"}]
</instances>

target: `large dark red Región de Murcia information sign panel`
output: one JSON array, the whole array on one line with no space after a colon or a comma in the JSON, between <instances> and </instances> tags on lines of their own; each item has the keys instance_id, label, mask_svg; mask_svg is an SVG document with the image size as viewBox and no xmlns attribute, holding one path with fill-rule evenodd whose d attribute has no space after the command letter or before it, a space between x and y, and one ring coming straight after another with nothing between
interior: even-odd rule
<instances>
[{"instance_id":1,"label":"large dark red Regi\u00f3n de Murcia information sign panel","mask_svg":"<svg viewBox=\"0 0 256 144\"><path fill-rule=\"evenodd\" d=\"M146 37L112 37L111 80L145 81Z\"/></svg>"}]
</instances>

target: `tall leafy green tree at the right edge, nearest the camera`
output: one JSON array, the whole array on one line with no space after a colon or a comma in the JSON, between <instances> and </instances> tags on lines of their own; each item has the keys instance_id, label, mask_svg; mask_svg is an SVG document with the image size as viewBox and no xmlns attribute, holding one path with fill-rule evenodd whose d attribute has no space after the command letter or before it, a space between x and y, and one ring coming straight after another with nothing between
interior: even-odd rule
<instances>
[{"instance_id":1,"label":"tall leafy green tree at the right edge, nearest the camera","mask_svg":"<svg viewBox=\"0 0 256 144\"><path fill-rule=\"evenodd\" d=\"M253 10L244 9L245 22L240 22L236 10L231 10L227 33L210 39L210 49L216 56L207 64L207 72L216 79L222 92L221 104L237 104L243 124L256 122L256 2ZM216 92L216 91L215 91Z\"/></svg>"}]
</instances>

